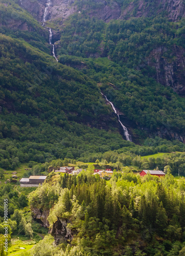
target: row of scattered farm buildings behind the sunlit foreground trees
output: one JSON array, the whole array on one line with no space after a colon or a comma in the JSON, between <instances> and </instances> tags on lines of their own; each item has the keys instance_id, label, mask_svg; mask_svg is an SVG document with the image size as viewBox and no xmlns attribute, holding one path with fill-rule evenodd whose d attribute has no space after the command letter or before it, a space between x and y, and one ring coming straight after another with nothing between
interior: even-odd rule
<instances>
[{"instance_id":1,"label":"row of scattered farm buildings behind the sunlit foreground trees","mask_svg":"<svg viewBox=\"0 0 185 256\"><path fill-rule=\"evenodd\" d=\"M56 173L64 173L64 174L71 174L71 175L78 175L82 172L81 169L75 169L75 167L60 167L59 170L55 170ZM113 172L111 169L101 170L101 169L95 169L94 174L98 174L100 178L102 179L110 179L113 175ZM142 170L140 172L140 176L145 176L147 174L150 174L152 176L158 176L158 177L164 177L165 173L162 170ZM44 180L47 178L47 176L30 176L30 178L22 178L20 180L20 186L21 187L38 187L39 184L42 184Z\"/></svg>"}]
</instances>

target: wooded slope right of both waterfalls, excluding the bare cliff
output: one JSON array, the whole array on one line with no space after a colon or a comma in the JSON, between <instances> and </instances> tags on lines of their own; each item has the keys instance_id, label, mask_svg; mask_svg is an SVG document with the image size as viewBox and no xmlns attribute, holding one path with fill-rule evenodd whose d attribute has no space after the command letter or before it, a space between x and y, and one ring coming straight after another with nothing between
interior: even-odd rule
<instances>
[{"instance_id":1,"label":"wooded slope right of both waterfalls, excluding the bare cliff","mask_svg":"<svg viewBox=\"0 0 185 256\"><path fill-rule=\"evenodd\" d=\"M167 61L175 58L171 47L184 46L182 26L183 21L174 24L163 17L112 20L105 24L75 14L62 31L60 62L80 69L99 83L127 119L145 128L143 132L141 127L140 131L136 129L135 134L146 137L146 129L153 133L161 126L184 134L184 99L152 79L155 70L146 63L158 46L167 49ZM108 56L112 61L84 58L97 55Z\"/></svg>"}]
</instances>

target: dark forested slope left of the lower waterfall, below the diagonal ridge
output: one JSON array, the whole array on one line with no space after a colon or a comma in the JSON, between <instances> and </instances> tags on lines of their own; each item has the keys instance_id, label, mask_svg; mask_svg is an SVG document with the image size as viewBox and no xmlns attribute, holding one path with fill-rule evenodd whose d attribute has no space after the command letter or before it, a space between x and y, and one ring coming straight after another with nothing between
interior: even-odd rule
<instances>
[{"instance_id":1,"label":"dark forested slope left of the lower waterfall, below the diagonal ridge","mask_svg":"<svg viewBox=\"0 0 185 256\"><path fill-rule=\"evenodd\" d=\"M111 127L117 118L110 116L93 80L28 42L2 34L0 41L3 168L128 145ZM96 129L101 117L108 133Z\"/></svg>"}]
</instances>

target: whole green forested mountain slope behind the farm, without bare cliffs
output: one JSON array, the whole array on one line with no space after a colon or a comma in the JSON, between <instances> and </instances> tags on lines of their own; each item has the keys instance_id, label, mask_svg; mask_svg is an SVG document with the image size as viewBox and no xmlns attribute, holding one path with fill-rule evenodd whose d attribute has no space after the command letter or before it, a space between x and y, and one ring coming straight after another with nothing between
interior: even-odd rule
<instances>
[{"instance_id":1,"label":"whole green forested mountain slope behind the farm, without bare cliffs","mask_svg":"<svg viewBox=\"0 0 185 256\"><path fill-rule=\"evenodd\" d=\"M92 4L95 9L99 5L102 2ZM0 7L2 167L134 146L123 139L101 91L117 108L134 142L143 143L148 136L184 142L184 99L157 83L150 67L150 62L156 63L153 51L163 48L165 63L177 64L174 90L182 95L183 57L179 65L176 59L180 51L183 54L182 19L172 23L166 17L142 17L105 23L84 9L62 25L51 19L41 26L13 1ZM59 63L51 56L47 24L53 44L61 34L54 44ZM168 55L171 47L176 55Z\"/></svg>"}]
</instances>

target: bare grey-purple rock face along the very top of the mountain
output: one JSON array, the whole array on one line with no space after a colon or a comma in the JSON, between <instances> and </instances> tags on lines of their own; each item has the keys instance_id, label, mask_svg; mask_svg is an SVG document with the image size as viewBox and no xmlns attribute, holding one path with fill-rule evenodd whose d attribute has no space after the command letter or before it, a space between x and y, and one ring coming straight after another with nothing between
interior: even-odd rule
<instances>
[{"instance_id":1,"label":"bare grey-purple rock face along the very top of the mountain","mask_svg":"<svg viewBox=\"0 0 185 256\"><path fill-rule=\"evenodd\" d=\"M18 0L18 4L32 13L32 15L42 22L44 9L47 4L47 0ZM87 11L90 17L97 17L103 19L105 22L109 22L111 19L129 19L130 17L150 17L154 13L160 13L167 11L171 20L177 21L180 17L185 16L185 5L183 0L155 0L154 2L148 2L145 0L132 1L129 4L125 4L122 8L116 1L108 3L106 0L94 0L95 5L89 7L87 4L83 4L80 9L77 5L74 5L75 0L51 0L51 5L48 9L48 19L59 19L60 24L62 20L70 16L71 14L81 11ZM122 10L123 9L123 10Z\"/></svg>"}]
</instances>

